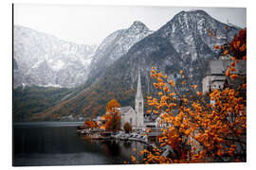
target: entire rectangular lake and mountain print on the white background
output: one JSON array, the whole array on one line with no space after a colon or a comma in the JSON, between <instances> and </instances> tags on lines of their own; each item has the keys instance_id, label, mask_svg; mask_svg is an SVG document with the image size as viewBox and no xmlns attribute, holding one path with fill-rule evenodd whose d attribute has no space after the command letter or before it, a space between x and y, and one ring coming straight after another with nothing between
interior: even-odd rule
<instances>
[{"instance_id":1,"label":"entire rectangular lake and mountain print on the white background","mask_svg":"<svg viewBox=\"0 0 256 170\"><path fill-rule=\"evenodd\" d=\"M9 7L12 166L248 161L247 8Z\"/></svg>"}]
</instances>

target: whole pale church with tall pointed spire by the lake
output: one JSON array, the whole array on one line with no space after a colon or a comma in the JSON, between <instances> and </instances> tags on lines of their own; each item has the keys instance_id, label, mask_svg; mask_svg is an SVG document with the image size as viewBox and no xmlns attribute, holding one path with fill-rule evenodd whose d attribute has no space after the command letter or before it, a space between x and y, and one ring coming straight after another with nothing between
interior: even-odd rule
<instances>
[{"instance_id":1,"label":"whole pale church with tall pointed spire by the lake","mask_svg":"<svg viewBox=\"0 0 256 170\"><path fill-rule=\"evenodd\" d=\"M121 128L128 122L133 129L144 129L144 102L141 91L140 73L137 76L137 93L135 99L135 110L131 106L119 108L121 116Z\"/></svg>"}]
</instances>

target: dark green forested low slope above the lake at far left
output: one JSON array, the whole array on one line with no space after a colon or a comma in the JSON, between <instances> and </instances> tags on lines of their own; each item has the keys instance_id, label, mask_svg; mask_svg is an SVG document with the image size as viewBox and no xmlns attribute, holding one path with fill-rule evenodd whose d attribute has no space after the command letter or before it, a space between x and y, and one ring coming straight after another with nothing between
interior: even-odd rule
<instances>
[{"instance_id":1,"label":"dark green forested low slope above the lake at far left","mask_svg":"<svg viewBox=\"0 0 256 170\"><path fill-rule=\"evenodd\" d=\"M13 90L14 121L29 121L33 117L33 114L54 106L62 98L71 93L72 90L66 88L18 87ZM57 115L55 114L55 116ZM56 119L56 117L50 116L47 118L46 120Z\"/></svg>"}]
</instances>

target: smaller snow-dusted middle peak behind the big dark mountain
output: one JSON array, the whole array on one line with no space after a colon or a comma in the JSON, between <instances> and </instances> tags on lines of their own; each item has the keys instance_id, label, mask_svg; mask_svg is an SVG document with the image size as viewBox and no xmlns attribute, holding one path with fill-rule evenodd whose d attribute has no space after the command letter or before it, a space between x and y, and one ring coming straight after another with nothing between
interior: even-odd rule
<instances>
[{"instance_id":1,"label":"smaller snow-dusted middle peak behind the big dark mountain","mask_svg":"<svg viewBox=\"0 0 256 170\"><path fill-rule=\"evenodd\" d=\"M93 77L100 77L109 65L125 55L136 43L153 33L147 26L135 21L132 26L120 29L107 36L95 52L90 66Z\"/></svg>"}]
</instances>

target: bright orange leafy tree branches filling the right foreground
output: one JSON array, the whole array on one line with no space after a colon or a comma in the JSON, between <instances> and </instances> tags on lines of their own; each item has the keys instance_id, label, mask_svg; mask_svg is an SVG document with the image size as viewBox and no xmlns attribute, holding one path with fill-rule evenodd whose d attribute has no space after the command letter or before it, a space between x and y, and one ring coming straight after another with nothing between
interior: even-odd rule
<instances>
[{"instance_id":1,"label":"bright orange leafy tree branches filling the right foreground","mask_svg":"<svg viewBox=\"0 0 256 170\"><path fill-rule=\"evenodd\" d=\"M239 39L235 37L232 42ZM239 54L243 54L243 45L238 46L237 49L241 50ZM226 76L235 81L239 75L233 74L234 66L241 58L232 59ZM242 59L247 58L244 56ZM187 75L182 70L179 74L185 88ZM155 114L161 115L160 123L167 127L162 128L158 136L160 145L151 151L141 152L146 155L145 163L246 161L246 81L236 82L240 84L234 87L240 88L226 86L206 95L199 92L196 85L191 85L191 93L185 95L176 91L173 79L158 72L155 67L151 76L156 80L154 86L159 93L155 98L148 96L148 104ZM166 145L172 148L172 152L163 155L162 148Z\"/></svg>"}]
</instances>

